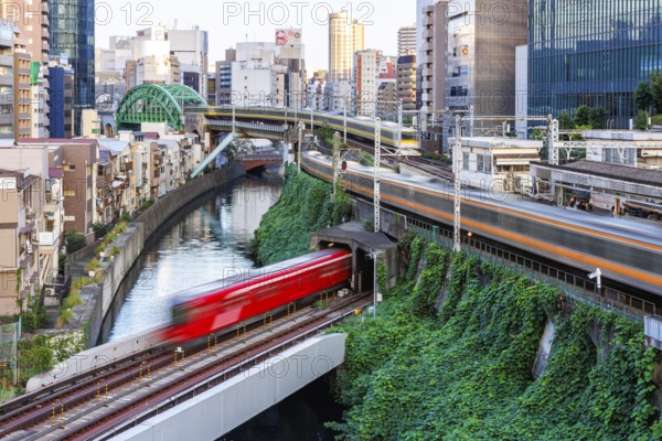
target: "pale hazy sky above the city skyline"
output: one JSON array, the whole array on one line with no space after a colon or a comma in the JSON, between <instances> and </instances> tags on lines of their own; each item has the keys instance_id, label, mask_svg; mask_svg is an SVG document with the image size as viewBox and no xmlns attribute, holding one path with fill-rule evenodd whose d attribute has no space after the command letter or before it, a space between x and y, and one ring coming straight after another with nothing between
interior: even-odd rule
<instances>
[{"instance_id":1,"label":"pale hazy sky above the city skyline","mask_svg":"<svg viewBox=\"0 0 662 441\"><path fill-rule=\"evenodd\" d=\"M210 66L237 42L275 41L276 28L302 28L308 68L327 68L328 15L341 9L365 24L365 44L397 55L397 29L416 21L416 0L380 1L210 1L97 0L96 45L108 47L110 35L134 35L153 24L209 31ZM311 72L311 71L309 71Z\"/></svg>"}]
</instances>

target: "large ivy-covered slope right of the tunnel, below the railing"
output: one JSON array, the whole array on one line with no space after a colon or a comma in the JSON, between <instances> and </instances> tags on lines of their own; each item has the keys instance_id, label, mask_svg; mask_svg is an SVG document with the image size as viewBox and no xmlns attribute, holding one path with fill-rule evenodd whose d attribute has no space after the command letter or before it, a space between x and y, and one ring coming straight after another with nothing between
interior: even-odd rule
<instances>
[{"instance_id":1,"label":"large ivy-covered slope right of the tunnel, below the railing","mask_svg":"<svg viewBox=\"0 0 662 441\"><path fill-rule=\"evenodd\" d=\"M568 312L556 288L462 255L452 258L439 316L421 315L448 251L429 246L425 254L416 288L403 280L376 321L340 329L349 335L338 373L348 410L330 424L339 440L659 439L655 352L644 348L640 324L586 305ZM551 318L552 355L534 380ZM598 347L587 333L596 327Z\"/></svg>"}]
</instances>

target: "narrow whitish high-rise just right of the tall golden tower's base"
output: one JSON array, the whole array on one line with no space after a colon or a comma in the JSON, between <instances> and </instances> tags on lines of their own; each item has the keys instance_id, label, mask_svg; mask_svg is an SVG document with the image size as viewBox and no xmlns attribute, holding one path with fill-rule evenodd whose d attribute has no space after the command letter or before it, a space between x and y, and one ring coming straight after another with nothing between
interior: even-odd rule
<instances>
[{"instance_id":1,"label":"narrow whitish high-rise just right of the tall golden tower's base","mask_svg":"<svg viewBox=\"0 0 662 441\"><path fill-rule=\"evenodd\" d=\"M377 77L382 51L365 50L354 54L352 85L356 92L356 112L374 116L377 100Z\"/></svg>"}]
</instances>

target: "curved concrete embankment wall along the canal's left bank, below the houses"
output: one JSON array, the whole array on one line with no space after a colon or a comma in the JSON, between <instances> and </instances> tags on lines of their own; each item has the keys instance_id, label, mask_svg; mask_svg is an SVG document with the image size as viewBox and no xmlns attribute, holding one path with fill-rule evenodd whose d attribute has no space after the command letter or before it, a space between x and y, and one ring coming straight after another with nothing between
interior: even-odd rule
<instances>
[{"instance_id":1,"label":"curved concrete embankment wall along the canal's left bank, below the houses","mask_svg":"<svg viewBox=\"0 0 662 441\"><path fill-rule=\"evenodd\" d=\"M193 180L159 198L119 236L114 245L119 248L120 254L111 262L103 263L105 267L104 280L98 286L88 287L82 292L85 311L79 315L79 323L88 322L87 344L89 347L98 344L102 326L111 310L119 287L140 257L150 237L188 204L207 192L229 185L231 181L243 175L243 166L234 163L223 170Z\"/></svg>"}]
</instances>

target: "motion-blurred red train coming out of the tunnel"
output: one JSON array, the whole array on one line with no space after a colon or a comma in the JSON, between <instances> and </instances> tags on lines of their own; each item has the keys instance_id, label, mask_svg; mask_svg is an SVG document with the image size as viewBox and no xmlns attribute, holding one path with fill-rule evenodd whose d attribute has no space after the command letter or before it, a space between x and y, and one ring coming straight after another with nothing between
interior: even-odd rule
<instances>
[{"instance_id":1,"label":"motion-blurred red train coming out of the tunnel","mask_svg":"<svg viewBox=\"0 0 662 441\"><path fill-rule=\"evenodd\" d=\"M329 248L177 294L163 337L185 342L349 283L352 252Z\"/></svg>"}]
</instances>

